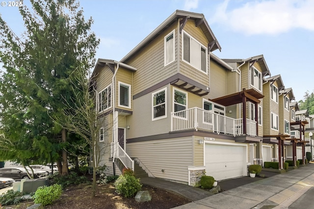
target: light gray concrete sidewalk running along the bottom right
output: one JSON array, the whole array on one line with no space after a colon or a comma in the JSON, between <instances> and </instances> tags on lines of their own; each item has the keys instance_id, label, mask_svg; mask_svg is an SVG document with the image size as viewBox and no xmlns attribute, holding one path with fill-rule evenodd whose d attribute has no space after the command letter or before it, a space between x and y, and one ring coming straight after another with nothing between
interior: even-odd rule
<instances>
[{"instance_id":1,"label":"light gray concrete sidewalk running along the bottom right","mask_svg":"<svg viewBox=\"0 0 314 209\"><path fill-rule=\"evenodd\" d=\"M313 186L314 164L307 164L174 209L288 209Z\"/></svg>"}]
</instances>

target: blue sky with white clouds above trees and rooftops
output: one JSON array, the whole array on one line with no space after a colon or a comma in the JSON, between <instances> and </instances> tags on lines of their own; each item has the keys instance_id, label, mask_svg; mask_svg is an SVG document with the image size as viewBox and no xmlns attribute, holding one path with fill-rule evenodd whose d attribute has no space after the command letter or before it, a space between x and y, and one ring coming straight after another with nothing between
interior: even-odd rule
<instances>
[{"instance_id":1,"label":"blue sky with white clouds above trees and rooftops","mask_svg":"<svg viewBox=\"0 0 314 209\"><path fill-rule=\"evenodd\" d=\"M20 35L17 7L0 0L0 14ZM4 3L3 3L4 2ZM80 0L101 39L96 58L120 61L177 9L203 13L217 38L219 58L263 54L271 76L280 74L295 101L314 91L314 0ZM5 4L5 6L4 6ZM30 5L29 0L23 4Z\"/></svg>"}]
</instances>

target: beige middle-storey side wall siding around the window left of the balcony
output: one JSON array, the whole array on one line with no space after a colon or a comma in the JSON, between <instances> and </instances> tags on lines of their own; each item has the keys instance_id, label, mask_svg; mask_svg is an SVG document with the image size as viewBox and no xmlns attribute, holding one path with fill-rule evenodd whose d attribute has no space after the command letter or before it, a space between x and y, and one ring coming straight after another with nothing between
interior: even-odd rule
<instances>
[{"instance_id":1,"label":"beige middle-storey side wall siding around the window left of the balcony","mask_svg":"<svg viewBox=\"0 0 314 209\"><path fill-rule=\"evenodd\" d=\"M167 133L170 131L170 107L169 86L167 87L167 117L152 120L152 94L146 94L133 101L133 114L127 117L127 124L130 130L127 131L127 138L136 138L149 135ZM161 88L162 89L162 88ZM172 94L172 92L171 92Z\"/></svg>"}]
</instances>

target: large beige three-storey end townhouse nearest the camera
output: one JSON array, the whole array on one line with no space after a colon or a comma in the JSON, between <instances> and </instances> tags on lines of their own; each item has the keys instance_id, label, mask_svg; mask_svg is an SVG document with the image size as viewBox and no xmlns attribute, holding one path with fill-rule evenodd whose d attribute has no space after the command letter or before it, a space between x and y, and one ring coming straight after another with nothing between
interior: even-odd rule
<instances>
[{"instance_id":1,"label":"large beige three-storey end townhouse nearest the camera","mask_svg":"<svg viewBox=\"0 0 314 209\"><path fill-rule=\"evenodd\" d=\"M118 161L134 169L135 161L149 176L189 185L205 172L215 180L247 175L259 156L253 150L263 130L255 116L268 68L262 56L231 66L215 50L221 47L204 15L177 10L122 60L98 59L108 172L120 173Z\"/></svg>"}]
</instances>

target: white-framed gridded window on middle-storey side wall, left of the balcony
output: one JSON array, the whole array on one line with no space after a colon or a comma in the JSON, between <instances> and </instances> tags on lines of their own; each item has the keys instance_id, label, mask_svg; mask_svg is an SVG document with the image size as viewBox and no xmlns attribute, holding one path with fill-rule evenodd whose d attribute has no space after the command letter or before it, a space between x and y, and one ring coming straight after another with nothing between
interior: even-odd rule
<instances>
[{"instance_id":1,"label":"white-framed gridded window on middle-storey side wall, left of the balcony","mask_svg":"<svg viewBox=\"0 0 314 209\"><path fill-rule=\"evenodd\" d=\"M152 120L167 117L167 88L152 93Z\"/></svg>"}]
</instances>

